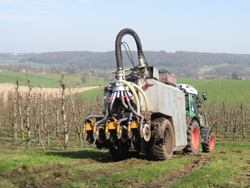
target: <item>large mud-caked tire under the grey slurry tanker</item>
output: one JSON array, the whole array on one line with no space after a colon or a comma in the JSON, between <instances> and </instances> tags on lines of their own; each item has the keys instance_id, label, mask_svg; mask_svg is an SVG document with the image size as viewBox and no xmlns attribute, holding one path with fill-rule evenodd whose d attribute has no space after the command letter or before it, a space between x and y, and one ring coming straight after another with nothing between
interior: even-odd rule
<instances>
[{"instance_id":1,"label":"large mud-caked tire under the grey slurry tanker","mask_svg":"<svg viewBox=\"0 0 250 188\"><path fill-rule=\"evenodd\" d=\"M150 160L167 160L173 155L174 132L171 123L164 117L152 121L152 127L160 127L164 132L163 140L156 140L157 135L153 135L146 145L146 156Z\"/></svg>"}]
</instances>

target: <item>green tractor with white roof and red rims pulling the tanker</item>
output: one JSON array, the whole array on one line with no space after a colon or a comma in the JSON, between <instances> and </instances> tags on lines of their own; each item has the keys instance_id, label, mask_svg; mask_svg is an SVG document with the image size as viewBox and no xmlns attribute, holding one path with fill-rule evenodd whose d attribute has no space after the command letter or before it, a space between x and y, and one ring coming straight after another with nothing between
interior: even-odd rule
<instances>
[{"instance_id":1,"label":"green tractor with white roof and red rims pulling the tanker","mask_svg":"<svg viewBox=\"0 0 250 188\"><path fill-rule=\"evenodd\" d=\"M177 87L185 93L186 122L188 145L184 149L187 153L197 154L200 144L203 152L213 152L215 148L215 134L211 126L205 125L204 117L200 114L201 101L197 89L188 84L178 84ZM203 100L207 100L207 94L202 94Z\"/></svg>"}]
</instances>

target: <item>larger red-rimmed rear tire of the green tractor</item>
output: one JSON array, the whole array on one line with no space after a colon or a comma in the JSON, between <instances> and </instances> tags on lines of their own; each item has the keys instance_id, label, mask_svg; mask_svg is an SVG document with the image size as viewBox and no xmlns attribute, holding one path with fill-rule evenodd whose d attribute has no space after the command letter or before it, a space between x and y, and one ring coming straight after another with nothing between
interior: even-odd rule
<instances>
[{"instance_id":1,"label":"larger red-rimmed rear tire of the green tractor","mask_svg":"<svg viewBox=\"0 0 250 188\"><path fill-rule=\"evenodd\" d=\"M184 148L184 152L188 154L197 155L200 151L200 126L197 121L193 120L188 126L187 130L187 146Z\"/></svg>"}]
</instances>

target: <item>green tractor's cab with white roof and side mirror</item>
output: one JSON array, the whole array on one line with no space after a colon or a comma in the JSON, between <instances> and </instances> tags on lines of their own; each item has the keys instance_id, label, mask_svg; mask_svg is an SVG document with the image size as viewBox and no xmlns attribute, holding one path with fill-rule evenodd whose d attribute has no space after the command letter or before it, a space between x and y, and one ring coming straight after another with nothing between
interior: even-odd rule
<instances>
[{"instance_id":1,"label":"green tractor's cab with white roof and side mirror","mask_svg":"<svg viewBox=\"0 0 250 188\"><path fill-rule=\"evenodd\" d=\"M188 84L177 84L177 87L185 93L186 100L186 116L196 116L200 120L200 124L204 124L203 117L200 115L199 108L201 101L198 97L198 91ZM203 100L207 100L207 94L203 93Z\"/></svg>"}]
</instances>

